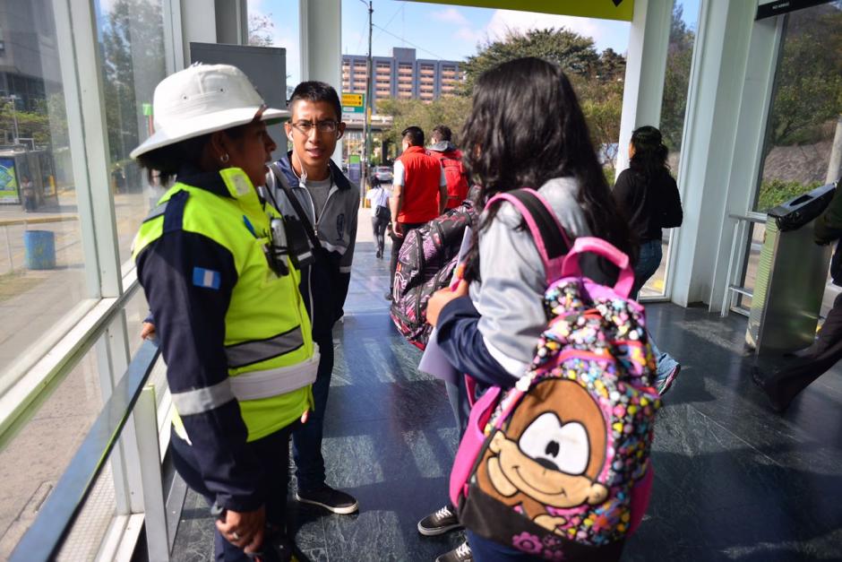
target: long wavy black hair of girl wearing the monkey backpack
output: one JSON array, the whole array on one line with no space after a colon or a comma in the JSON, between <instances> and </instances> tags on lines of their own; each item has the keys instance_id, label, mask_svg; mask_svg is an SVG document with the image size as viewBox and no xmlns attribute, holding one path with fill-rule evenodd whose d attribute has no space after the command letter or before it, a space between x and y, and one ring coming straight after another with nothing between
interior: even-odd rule
<instances>
[{"instance_id":1,"label":"long wavy black hair of girl wearing the monkey backpack","mask_svg":"<svg viewBox=\"0 0 842 562\"><path fill-rule=\"evenodd\" d=\"M537 189L554 177L574 177L590 231L631 255L628 222L614 203L576 92L561 67L530 56L480 75L461 137L468 175L482 186L478 204L519 187ZM495 214L496 209L488 212L475 231L467 281L479 279L478 233Z\"/></svg>"}]
</instances>

